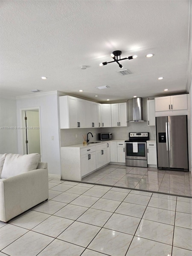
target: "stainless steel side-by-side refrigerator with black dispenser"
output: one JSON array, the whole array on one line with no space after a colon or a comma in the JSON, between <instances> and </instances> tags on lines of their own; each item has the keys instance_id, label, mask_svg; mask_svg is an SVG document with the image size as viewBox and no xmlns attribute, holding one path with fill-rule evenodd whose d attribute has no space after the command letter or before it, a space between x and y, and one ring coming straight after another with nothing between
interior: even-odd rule
<instances>
[{"instance_id":1,"label":"stainless steel side-by-side refrigerator with black dispenser","mask_svg":"<svg viewBox=\"0 0 192 256\"><path fill-rule=\"evenodd\" d=\"M188 171L187 116L156 117L158 169Z\"/></svg>"}]
</instances>

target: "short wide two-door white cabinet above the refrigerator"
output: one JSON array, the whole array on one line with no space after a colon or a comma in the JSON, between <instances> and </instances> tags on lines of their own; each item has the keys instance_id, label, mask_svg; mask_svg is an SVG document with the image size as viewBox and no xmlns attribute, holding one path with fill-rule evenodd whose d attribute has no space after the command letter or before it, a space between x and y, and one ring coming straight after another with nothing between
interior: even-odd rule
<instances>
[{"instance_id":1,"label":"short wide two-door white cabinet above the refrigerator","mask_svg":"<svg viewBox=\"0 0 192 256\"><path fill-rule=\"evenodd\" d=\"M155 111L172 111L187 109L187 94L155 98Z\"/></svg>"}]
</instances>

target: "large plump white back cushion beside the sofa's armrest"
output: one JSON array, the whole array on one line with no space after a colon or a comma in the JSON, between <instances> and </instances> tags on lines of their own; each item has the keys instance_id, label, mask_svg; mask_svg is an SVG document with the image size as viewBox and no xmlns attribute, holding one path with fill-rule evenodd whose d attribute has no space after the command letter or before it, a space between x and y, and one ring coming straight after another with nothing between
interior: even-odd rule
<instances>
[{"instance_id":1,"label":"large plump white back cushion beside the sofa's armrest","mask_svg":"<svg viewBox=\"0 0 192 256\"><path fill-rule=\"evenodd\" d=\"M36 170L39 161L41 161L41 155L38 153L29 155L7 154L1 178L9 178L21 173Z\"/></svg>"}]
</instances>

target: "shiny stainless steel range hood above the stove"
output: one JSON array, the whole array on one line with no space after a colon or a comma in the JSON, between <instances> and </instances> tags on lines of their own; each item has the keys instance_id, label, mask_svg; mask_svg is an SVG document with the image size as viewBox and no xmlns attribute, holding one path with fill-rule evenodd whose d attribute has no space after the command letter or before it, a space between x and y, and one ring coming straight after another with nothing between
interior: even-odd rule
<instances>
[{"instance_id":1,"label":"shiny stainless steel range hood above the stove","mask_svg":"<svg viewBox=\"0 0 192 256\"><path fill-rule=\"evenodd\" d=\"M143 120L143 101L142 98L132 98L133 120L129 122L144 122Z\"/></svg>"}]
</instances>

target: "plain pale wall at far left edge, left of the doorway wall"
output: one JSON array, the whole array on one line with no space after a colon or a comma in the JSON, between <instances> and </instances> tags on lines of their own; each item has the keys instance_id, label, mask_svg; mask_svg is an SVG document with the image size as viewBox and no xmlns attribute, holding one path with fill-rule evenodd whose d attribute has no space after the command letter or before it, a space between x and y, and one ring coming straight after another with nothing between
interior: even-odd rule
<instances>
[{"instance_id":1,"label":"plain pale wall at far left edge, left of the doorway wall","mask_svg":"<svg viewBox=\"0 0 192 256\"><path fill-rule=\"evenodd\" d=\"M18 154L16 99L0 98L0 126L0 154Z\"/></svg>"}]
</instances>

